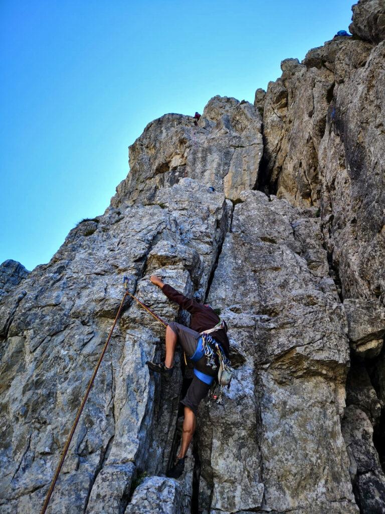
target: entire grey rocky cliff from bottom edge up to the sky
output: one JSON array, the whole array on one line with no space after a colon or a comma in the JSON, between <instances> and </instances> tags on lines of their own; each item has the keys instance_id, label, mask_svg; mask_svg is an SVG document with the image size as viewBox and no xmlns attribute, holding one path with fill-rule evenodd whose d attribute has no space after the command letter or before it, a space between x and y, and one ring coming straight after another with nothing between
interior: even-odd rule
<instances>
[{"instance_id":1,"label":"entire grey rocky cliff from bottom edge up to the sky","mask_svg":"<svg viewBox=\"0 0 385 514\"><path fill-rule=\"evenodd\" d=\"M51 261L0 268L0 512L39 511L124 293L188 324L151 274L221 310L235 375L199 408L149 375L164 327L127 300L48 512L385 511L383 3L257 89L168 114L105 213Z\"/></svg>"}]
</instances>

